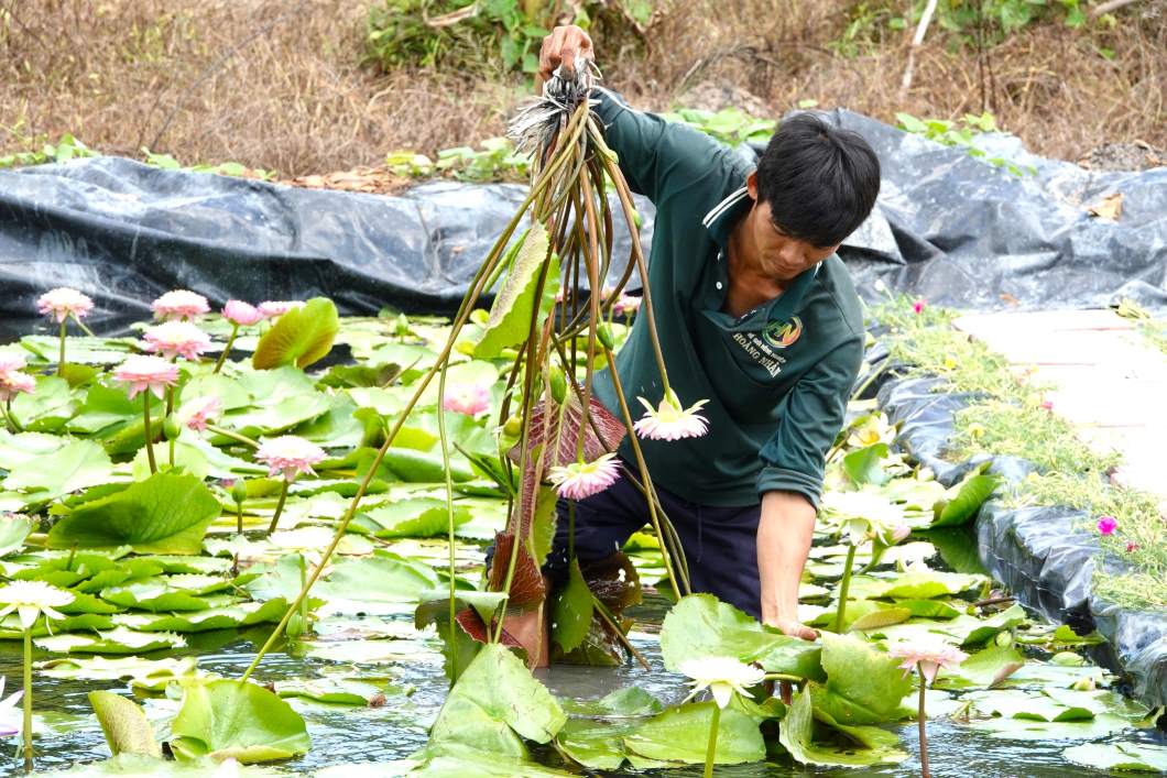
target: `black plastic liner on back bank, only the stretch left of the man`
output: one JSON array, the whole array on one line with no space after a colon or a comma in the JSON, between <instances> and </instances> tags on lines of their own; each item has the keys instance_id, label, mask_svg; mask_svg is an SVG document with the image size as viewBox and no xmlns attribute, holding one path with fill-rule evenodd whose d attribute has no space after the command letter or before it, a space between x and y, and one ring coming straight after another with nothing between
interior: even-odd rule
<instances>
[{"instance_id":1,"label":"black plastic liner on back bank, only the stretch left of the man","mask_svg":"<svg viewBox=\"0 0 1167 778\"><path fill-rule=\"evenodd\" d=\"M100 332L175 288L215 306L327 296L344 315L453 314L525 196L447 181L397 197L298 189L119 157L0 171L0 337L41 324L36 297L57 286L93 299ZM651 239L652 205L636 208ZM609 282L631 247L620 224Z\"/></svg>"}]
</instances>

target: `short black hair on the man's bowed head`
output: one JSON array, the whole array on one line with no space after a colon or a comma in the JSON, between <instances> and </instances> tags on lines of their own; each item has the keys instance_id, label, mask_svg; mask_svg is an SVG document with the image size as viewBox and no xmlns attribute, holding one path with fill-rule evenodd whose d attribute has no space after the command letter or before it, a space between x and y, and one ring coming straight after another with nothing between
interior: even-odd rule
<instances>
[{"instance_id":1,"label":"short black hair on the man's bowed head","mask_svg":"<svg viewBox=\"0 0 1167 778\"><path fill-rule=\"evenodd\" d=\"M875 205L879 159L858 133L813 113L783 119L757 163L759 202L782 232L818 248L841 243Z\"/></svg>"}]
</instances>

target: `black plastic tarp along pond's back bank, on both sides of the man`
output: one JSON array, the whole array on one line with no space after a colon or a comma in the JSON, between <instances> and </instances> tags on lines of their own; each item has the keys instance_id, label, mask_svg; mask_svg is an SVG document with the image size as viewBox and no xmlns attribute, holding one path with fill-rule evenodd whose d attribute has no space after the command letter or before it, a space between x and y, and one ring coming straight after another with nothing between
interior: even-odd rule
<instances>
[{"instance_id":1,"label":"black plastic tarp along pond's back bank, on both sides of the man","mask_svg":"<svg viewBox=\"0 0 1167 778\"><path fill-rule=\"evenodd\" d=\"M1019 177L857 113L830 115L867 138L883 168L875 211L839 252L868 293L882 279L962 308L1118 296L1167 307L1167 168L1092 173L981 136L990 155L1036 170ZM146 317L173 288L216 303L326 295L347 314L448 313L523 191L442 181L389 197L117 157L0 171L0 335L27 332L33 302L55 286L93 297L90 323L106 331ZM1084 205L1111 191L1121 218L1088 216ZM637 209L648 245L654 210L643 199ZM627 255L624 236L614 274Z\"/></svg>"}]
</instances>

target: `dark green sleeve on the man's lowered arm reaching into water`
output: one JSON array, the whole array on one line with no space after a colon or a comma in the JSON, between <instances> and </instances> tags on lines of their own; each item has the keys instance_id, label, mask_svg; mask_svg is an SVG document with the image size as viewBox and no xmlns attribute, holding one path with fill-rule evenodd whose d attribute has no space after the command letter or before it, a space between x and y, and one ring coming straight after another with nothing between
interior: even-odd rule
<instances>
[{"instance_id":1,"label":"dark green sleeve on the man's lowered arm reaching into water","mask_svg":"<svg viewBox=\"0 0 1167 778\"><path fill-rule=\"evenodd\" d=\"M759 495L798 492L818 509L826 453L843 429L864 342L852 338L811 369L782 400L778 429L762 447Z\"/></svg>"}]
</instances>

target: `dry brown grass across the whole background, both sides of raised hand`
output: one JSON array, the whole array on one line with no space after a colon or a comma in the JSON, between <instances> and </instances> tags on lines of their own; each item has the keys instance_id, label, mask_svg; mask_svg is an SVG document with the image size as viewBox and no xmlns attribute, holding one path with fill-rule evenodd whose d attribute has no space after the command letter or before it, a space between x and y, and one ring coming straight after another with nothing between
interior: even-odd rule
<instances>
[{"instance_id":1,"label":"dry brown grass across the whole background, both sides of raised hand","mask_svg":"<svg viewBox=\"0 0 1167 778\"><path fill-rule=\"evenodd\" d=\"M609 83L648 107L714 83L755 110L781 113L813 98L892 120L901 110L980 111L984 91L984 107L1042 154L1078 159L1114 140L1167 146L1167 10L1158 0L1133 6L1110 33L1033 27L983 63L950 50L934 29L903 100L908 33L854 58L829 48L852 0L671 2L649 58L633 36L596 35ZM362 66L365 8L355 0L0 0L0 125L20 133L0 129L0 149L72 132L105 153L137 156L148 146L183 162L233 160L292 176L498 134L527 89L522 79ZM1114 49L1114 58L1096 45ZM978 64L991 70L981 76Z\"/></svg>"}]
</instances>

